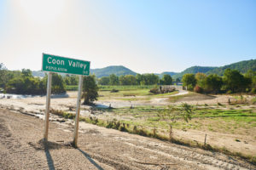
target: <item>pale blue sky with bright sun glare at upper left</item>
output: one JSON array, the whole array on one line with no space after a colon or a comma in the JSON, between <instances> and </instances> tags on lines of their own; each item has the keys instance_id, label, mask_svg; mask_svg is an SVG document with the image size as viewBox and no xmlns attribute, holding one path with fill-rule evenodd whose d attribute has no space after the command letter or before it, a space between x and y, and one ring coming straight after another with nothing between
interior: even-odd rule
<instances>
[{"instance_id":1,"label":"pale blue sky with bright sun glare at upper left","mask_svg":"<svg viewBox=\"0 0 256 170\"><path fill-rule=\"evenodd\" d=\"M183 71L256 59L254 0L0 0L0 62L40 70L42 53Z\"/></svg>"}]
</instances>

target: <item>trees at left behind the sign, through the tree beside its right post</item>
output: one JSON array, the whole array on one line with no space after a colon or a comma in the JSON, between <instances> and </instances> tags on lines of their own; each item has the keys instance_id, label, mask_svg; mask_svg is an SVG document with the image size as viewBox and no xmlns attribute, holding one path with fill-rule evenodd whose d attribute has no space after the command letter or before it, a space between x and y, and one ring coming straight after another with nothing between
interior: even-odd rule
<instances>
[{"instance_id":1,"label":"trees at left behind the sign, through the tree beside its right post","mask_svg":"<svg viewBox=\"0 0 256 170\"><path fill-rule=\"evenodd\" d=\"M32 71L22 69L22 71L9 71L3 64L0 64L0 89L8 94L32 94L45 95L47 89L48 75L43 78L33 77ZM78 85L79 77L61 75L53 73L51 83L51 94L66 93L66 85ZM98 87L96 77L84 77L83 94L84 104L90 104L98 97Z\"/></svg>"}]
</instances>

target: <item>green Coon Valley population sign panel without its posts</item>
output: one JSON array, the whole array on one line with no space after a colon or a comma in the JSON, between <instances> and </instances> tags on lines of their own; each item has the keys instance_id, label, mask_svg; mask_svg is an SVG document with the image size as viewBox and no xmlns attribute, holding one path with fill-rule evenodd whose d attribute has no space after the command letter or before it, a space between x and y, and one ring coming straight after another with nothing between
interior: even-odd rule
<instances>
[{"instance_id":1,"label":"green Coon Valley population sign panel without its posts","mask_svg":"<svg viewBox=\"0 0 256 170\"><path fill-rule=\"evenodd\" d=\"M42 71L89 76L90 61L43 54Z\"/></svg>"}]
</instances>

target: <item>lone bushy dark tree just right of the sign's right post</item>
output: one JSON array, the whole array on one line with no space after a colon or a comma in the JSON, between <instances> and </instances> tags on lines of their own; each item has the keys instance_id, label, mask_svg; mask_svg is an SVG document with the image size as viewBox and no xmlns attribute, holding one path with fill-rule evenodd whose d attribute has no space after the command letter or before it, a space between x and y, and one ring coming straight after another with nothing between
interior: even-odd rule
<instances>
[{"instance_id":1,"label":"lone bushy dark tree just right of the sign's right post","mask_svg":"<svg viewBox=\"0 0 256 170\"><path fill-rule=\"evenodd\" d=\"M90 105L93 101L97 100L98 94L98 86L96 85L96 77L95 75L90 75L89 77L84 77L83 81L83 95L84 105Z\"/></svg>"}]
</instances>

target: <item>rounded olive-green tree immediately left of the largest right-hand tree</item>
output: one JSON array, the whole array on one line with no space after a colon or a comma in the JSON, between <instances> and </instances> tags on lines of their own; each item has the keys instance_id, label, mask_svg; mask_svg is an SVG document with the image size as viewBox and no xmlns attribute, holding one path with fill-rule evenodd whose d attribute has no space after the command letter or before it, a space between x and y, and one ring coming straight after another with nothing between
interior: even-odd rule
<instances>
[{"instance_id":1,"label":"rounded olive-green tree immediately left of the largest right-hand tree","mask_svg":"<svg viewBox=\"0 0 256 170\"><path fill-rule=\"evenodd\" d=\"M220 88L223 85L223 80L221 77L219 77L216 74L211 74L206 77L204 84L204 90L207 93L215 93L218 94L220 91Z\"/></svg>"}]
</instances>

